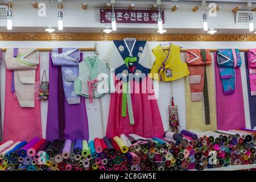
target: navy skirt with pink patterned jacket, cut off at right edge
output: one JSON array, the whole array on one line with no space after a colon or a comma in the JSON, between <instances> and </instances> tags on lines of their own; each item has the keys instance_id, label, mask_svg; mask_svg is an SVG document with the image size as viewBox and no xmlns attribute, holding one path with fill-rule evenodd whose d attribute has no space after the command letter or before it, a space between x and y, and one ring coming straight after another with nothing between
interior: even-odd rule
<instances>
[{"instance_id":1,"label":"navy skirt with pink patterned jacket, cut off at right edge","mask_svg":"<svg viewBox=\"0 0 256 182\"><path fill-rule=\"evenodd\" d=\"M250 68L249 64L249 57L250 53L245 52L245 71L246 71L246 80L247 80L247 92L248 92L248 101L249 101L249 112L250 112L250 123L251 123L251 129L256 126L256 112L255 107L256 107L256 95L251 94L251 89L253 89L255 84L255 79L256 79L256 69L255 68ZM251 72L255 71L254 74ZM253 79L254 78L254 79ZM256 93L256 92L255 92Z\"/></svg>"}]
</instances>

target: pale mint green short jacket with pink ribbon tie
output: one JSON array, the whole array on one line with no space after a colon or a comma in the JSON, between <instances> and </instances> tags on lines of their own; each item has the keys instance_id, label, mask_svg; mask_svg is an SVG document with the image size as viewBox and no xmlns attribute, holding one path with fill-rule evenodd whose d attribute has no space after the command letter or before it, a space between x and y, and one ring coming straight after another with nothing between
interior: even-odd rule
<instances>
[{"instance_id":1,"label":"pale mint green short jacket with pink ribbon tie","mask_svg":"<svg viewBox=\"0 0 256 182\"><path fill-rule=\"evenodd\" d=\"M75 94L89 97L89 102L93 102L93 98L110 93L110 85L114 84L110 80L112 81L110 71L104 61L96 56L85 57L84 61L79 63L79 77L74 86Z\"/></svg>"}]
</instances>

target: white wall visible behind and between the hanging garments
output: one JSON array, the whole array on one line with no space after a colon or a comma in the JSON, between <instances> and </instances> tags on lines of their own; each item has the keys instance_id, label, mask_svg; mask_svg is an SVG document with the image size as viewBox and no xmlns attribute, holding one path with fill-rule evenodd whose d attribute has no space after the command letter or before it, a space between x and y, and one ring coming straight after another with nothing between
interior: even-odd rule
<instances>
[{"instance_id":1,"label":"white wall visible behind and between the hanging garments","mask_svg":"<svg viewBox=\"0 0 256 182\"><path fill-rule=\"evenodd\" d=\"M93 47L95 42L0 42L1 48L56 48L56 47ZM182 46L183 48L256 48L255 42L172 42L176 45ZM98 50L100 52L100 57L104 57L110 42L98 42ZM159 42L150 42L150 47L153 48L157 46ZM85 52L85 55L89 55L90 52ZM242 86L243 86L243 99L245 106L245 118L246 118L246 127L250 128L250 117L249 117L249 105L248 105L248 96L247 96L247 82L246 82L246 72L244 64L244 54L241 52L242 57L242 66L241 66L241 75L242 75ZM185 61L184 52L181 53L181 59ZM48 52L40 52L40 75L42 77L43 70L47 71L48 77ZM214 71L214 69L213 69ZM2 60L1 69L1 106L2 106L2 122L5 106L5 61ZM51 84L51 83L50 83ZM158 105L160 113L162 115L164 129L168 129L168 105L170 101L167 102L167 98L171 98L171 82L160 82L159 88L159 98ZM175 104L179 107L179 117L181 123L181 129L185 129L186 117L185 117L185 82L184 78L172 82L173 93L175 98ZM103 105L103 115L104 115L104 125L106 128L108 121L109 113L109 103L110 95L106 95L101 98ZM42 115L42 127L43 127L43 136L46 134L46 123L47 123L47 102L41 102L41 115ZM89 122L89 131L90 139L95 137L102 137L101 127L101 114L100 114L100 100L94 99L93 104L89 104L88 99L86 99L86 111L88 114Z\"/></svg>"}]
</instances>

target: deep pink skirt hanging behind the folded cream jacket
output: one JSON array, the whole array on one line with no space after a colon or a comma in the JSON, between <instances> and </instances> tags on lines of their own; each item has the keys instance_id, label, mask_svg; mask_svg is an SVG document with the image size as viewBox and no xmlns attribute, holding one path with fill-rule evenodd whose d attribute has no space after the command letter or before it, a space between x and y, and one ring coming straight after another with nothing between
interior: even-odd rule
<instances>
[{"instance_id":1,"label":"deep pink skirt hanging behind the folded cream jacket","mask_svg":"<svg viewBox=\"0 0 256 182\"><path fill-rule=\"evenodd\" d=\"M14 93L11 93L12 72L6 69L3 140L17 142L30 141L34 137L42 138L40 100L35 98L35 107L20 107ZM40 81L39 65L36 69L36 81Z\"/></svg>"}]
</instances>

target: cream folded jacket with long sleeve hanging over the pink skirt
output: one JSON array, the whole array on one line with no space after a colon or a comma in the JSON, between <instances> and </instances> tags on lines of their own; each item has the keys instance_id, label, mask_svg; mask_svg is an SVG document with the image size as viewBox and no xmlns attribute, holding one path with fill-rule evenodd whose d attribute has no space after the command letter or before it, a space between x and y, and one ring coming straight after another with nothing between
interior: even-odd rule
<instances>
[{"instance_id":1,"label":"cream folded jacket with long sleeve hanging over the pink skirt","mask_svg":"<svg viewBox=\"0 0 256 182\"><path fill-rule=\"evenodd\" d=\"M14 70L15 95L20 107L35 107L35 69L39 64L36 49L7 49L6 68Z\"/></svg>"}]
</instances>

